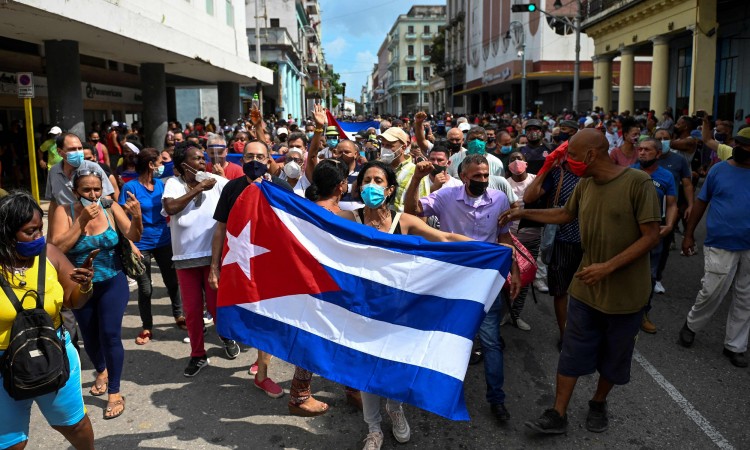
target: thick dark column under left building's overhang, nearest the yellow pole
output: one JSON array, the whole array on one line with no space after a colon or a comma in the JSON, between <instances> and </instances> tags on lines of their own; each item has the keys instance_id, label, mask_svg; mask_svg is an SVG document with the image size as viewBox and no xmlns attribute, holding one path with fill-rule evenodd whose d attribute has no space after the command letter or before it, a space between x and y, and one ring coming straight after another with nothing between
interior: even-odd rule
<instances>
[{"instance_id":1,"label":"thick dark column under left building's overhang, nearest the yellow pole","mask_svg":"<svg viewBox=\"0 0 750 450\"><path fill-rule=\"evenodd\" d=\"M85 140L77 41L44 41L50 124Z\"/></svg>"}]
</instances>

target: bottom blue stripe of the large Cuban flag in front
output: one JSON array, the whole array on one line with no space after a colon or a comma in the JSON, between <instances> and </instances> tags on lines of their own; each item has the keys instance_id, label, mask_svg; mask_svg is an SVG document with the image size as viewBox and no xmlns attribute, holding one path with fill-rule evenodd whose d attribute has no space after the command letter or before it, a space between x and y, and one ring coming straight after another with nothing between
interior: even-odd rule
<instances>
[{"instance_id":1,"label":"bottom blue stripe of the large Cuban flag in front","mask_svg":"<svg viewBox=\"0 0 750 450\"><path fill-rule=\"evenodd\" d=\"M329 380L448 419L469 420L463 382L451 376L359 352L239 306L218 308L216 323L221 336L293 361Z\"/></svg>"}]
</instances>

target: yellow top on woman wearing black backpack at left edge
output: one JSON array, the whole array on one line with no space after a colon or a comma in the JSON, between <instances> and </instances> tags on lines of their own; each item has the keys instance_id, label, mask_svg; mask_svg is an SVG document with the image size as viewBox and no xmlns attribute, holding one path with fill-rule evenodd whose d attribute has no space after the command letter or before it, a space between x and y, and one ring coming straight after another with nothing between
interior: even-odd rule
<instances>
[{"instance_id":1,"label":"yellow top on woman wearing black backpack at left edge","mask_svg":"<svg viewBox=\"0 0 750 450\"><path fill-rule=\"evenodd\" d=\"M59 281L57 281L57 270L55 266L46 260L47 268L45 271L44 280L44 310L52 318L52 323L55 328L60 328L62 325L62 319L60 318L60 309L62 308L63 302L63 288ZM16 293L16 297L21 301L27 291L37 290L39 282L37 281L39 257L34 258L34 263L26 269L25 275L15 274L11 276L8 273L0 273L0 276L4 276L8 280L13 292ZM25 282L25 286L21 286L20 283ZM36 297L28 295L23 299L23 307L30 309L36 307ZM8 348L10 340L10 329L13 326L13 321L16 319L16 309L13 304L8 300L5 292L0 289L0 353Z\"/></svg>"}]
</instances>

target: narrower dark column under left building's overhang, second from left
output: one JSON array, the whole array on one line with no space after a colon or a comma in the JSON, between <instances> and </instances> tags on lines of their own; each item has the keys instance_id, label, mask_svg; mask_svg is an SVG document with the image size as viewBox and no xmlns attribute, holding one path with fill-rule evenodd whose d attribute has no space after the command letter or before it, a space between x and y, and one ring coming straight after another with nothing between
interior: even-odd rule
<instances>
[{"instance_id":1,"label":"narrower dark column under left building's overhang, second from left","mask_svg":"<svg viewBox=\"0 0 750 450\"><path fill-rule=\"evenodd\" d=\"M162 151L164 137L167 135L167 80L164 64L141 64L141 89L144 144Z\"/></svg>"}]
</instances>

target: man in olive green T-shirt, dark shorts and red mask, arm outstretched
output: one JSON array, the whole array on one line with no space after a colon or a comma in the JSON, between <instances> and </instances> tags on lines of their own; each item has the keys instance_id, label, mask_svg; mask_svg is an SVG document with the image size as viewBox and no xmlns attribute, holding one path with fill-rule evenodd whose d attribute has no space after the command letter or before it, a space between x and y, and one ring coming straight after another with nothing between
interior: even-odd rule
<instances>
[{"instance_id":1,"label":"man in olive green T-shirt, dark shorts and red mask, arm outstretched","mask_svg":"<svg viewBox=\"0 0 750 450\"><path fill-rule=\"evenodd\" d=\"M567 155L554 152L548 157L565 157L571 172L581 177L565 207L511 209L501 218L557 224L578 218L581 228L584 254L568 290L555 405L526 422L540 433L566 432L566 412L576 381L595 371L599 382L589 401L586 428L605 431L607 395L614 385L630 381L635 338L651 291L649 251L659 242L661 212L648 174L615 165L608 150L601 131L579 131L571 138Z\"/></svg>"}]
</instances>

